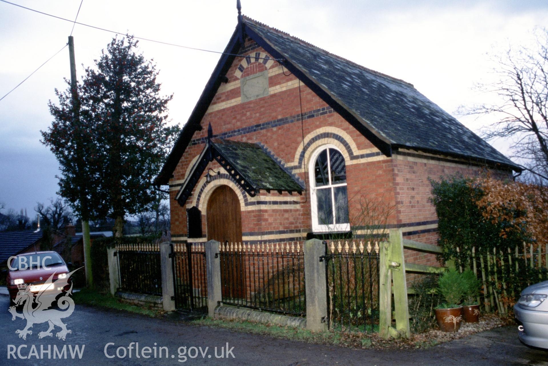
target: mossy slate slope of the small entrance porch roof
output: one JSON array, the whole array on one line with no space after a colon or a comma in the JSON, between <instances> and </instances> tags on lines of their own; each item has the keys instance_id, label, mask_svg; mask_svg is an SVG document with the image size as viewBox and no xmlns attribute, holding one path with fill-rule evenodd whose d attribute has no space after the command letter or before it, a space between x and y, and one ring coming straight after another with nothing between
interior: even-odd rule
<instances>
[{"instance_id":1,"label":"mossy slate slope of the small entrance porch roof","mask_svg":"<svg viewBox=\"0 0 548 366\"><path fill-rule=\"evenodd\" d=\"M258 144L211 139L213 147L242 174L255 189L301 191L295 178L283 166L272 159Z\"/></svg>"}]
</instances>

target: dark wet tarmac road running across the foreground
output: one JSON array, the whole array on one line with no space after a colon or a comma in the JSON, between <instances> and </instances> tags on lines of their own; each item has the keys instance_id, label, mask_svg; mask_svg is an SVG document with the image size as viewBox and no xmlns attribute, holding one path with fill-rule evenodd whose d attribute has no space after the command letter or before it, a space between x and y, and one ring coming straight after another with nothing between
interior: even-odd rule
<instances>
[{"instance_id":1,"label":"dark wet tarmac road running across the foreground","mask_svg":"<svg viewBox=\"0 0 548 366\"><path fill-rule=\"evenodd\" d=\"M32 335L23 340L15 334L15 330L24 328L26 321L20 318L12 321L8 306L8 296L0 295L0 365L548 365L548 352L522 345L513 326L486 331L427 350L352 350L191 326L168 318L153 319L76 304L74 313L64 319L67 328L72 330L65 341L55 337L60 330L58 327L55 327L52 337L38 339L38 333L47 330L47 323L34 325ZM132 357L129 358L128 346L132 342L139 343L140 356L152 357L136 358L133 346ZM107 345L109 343L113 345ZM155 343L156 358L153 357ZM71 359L68 347L76 345L85 346L82 357L78 358L76 354L76 359ZM106 345L106 353L113 358L105 356ZM47 351L49 346L50 358L44 352L44 359L37 359L32 346L36 347L37 356L40 356L41 347ZM54 355L57 356L54 346L61 356L62 347L67 346L68 359L53 359ZM144 347L147 346L151 347L150 353L146 353L148 350ZM162 358L158 357L160 346L168 348L168 357L165 357L164 349ZM186 352L180 349L182 354L178 352L181 346L187 347ZM119 356L125 352L124 358L116 356L118 347L122 347L118 351ZM199 349L190 347L202 347L204 356ZM206 347L209 348L205 350ZM216 355L214 347L218 347ZM223 356L228 358L215 357L221 356L221 348ZM141 353L143 350L145 353ZM20 359L20 356L30 356L30 359Z\"/></svg>"}]
</instances>

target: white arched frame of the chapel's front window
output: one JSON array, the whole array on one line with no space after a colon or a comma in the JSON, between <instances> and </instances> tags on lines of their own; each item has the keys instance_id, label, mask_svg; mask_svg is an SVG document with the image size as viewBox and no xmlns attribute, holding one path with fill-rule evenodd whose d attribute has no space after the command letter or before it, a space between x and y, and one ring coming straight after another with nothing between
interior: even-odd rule
<instances>
[{"instance_id":1,"label":"white arched frame of the chapel's front window","mask_svg":"<svg viewBox=\"0 0 548 366\"><path fill-rule=\"evenodd\" d=\"M326 150L326 149L334 149L334 150L337 150L339 151L339 153L341 153L341 155L343 155L343 153L341 152L341 150L339 150L339 148L337 148L335 145L332 145L332 144L326 144L326 145L322 145L321 147L319 147L318 149L316 149L316 151L314 151L314 153L312 154L312 156L310 157L310 161L309 161L309 179L310 179L310 204L311 204L311 213L312 213L312 231L313 232L349 232L350 231L350 223L347 222L347 223L336 223L335 222L335 195L333 194L333 188L335 187L343 187L345 186L346 187L346 196L348 197L348 185L347 183L340 183L340 184L327 184L327 185L323 185L322 188L316 188L316 177L315 177L315 165L316 165L316 159L318 158L318 155L320 153L322 153L322 151ZM331 182L331 158L329 156L329 154L327 154L328 157L327 157L327 161L328 161L328 178L329 178L329 183ZM344 155L343 155L343 159L344 159ZM345 159L345 170L346 170L346 159ZM319 224L318 223L318 199L317 199L317 195L316 195L316 190L317 189L328 189L330 188L331 189L331 204L333 205L333 222L334 224L328 224L328 225L324 225L324 224ZM348 205L348 202L346 202L346 204Z\"/></svg>"}]
</instances>

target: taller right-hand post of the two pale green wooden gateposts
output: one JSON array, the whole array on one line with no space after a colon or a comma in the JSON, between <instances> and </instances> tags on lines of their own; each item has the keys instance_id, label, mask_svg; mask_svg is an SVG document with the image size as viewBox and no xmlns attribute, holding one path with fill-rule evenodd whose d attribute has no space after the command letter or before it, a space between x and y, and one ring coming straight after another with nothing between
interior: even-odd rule
<instances>
[{"instance_id":1,"label":"taller right-hand post of the two pale green wooden gateposts","mask_svg":"<svg viewBox=\"0 0 548 366\"><path fill-rule=\"evenodd\" d=\"M409 338L409 309L407 299L406 263L403 256L402 229L390 230L390 257L391 262L398 263L398 267L392 267L392 281L394 283L394 307L396 313L396 330L406 338Z\"/></svg>"}]
</instances>

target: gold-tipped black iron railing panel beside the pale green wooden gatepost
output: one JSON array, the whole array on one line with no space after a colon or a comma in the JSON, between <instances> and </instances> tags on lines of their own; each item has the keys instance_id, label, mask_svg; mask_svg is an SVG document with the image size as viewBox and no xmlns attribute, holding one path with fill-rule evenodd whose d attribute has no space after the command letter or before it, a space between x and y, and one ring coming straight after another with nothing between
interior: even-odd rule
<instances>
[{"instance_id":1,"label":"gold-tipped black iron railing panel beside the pale green wooden gatepost","mask_svg":"<svg viewBox=\"0 0 548 366\"><path fill-rule=\"evenodd\" d=\"M328 323L331 329L372 332L379 324L379 246L326 243Z\"/></svg>"}]
</instances>

